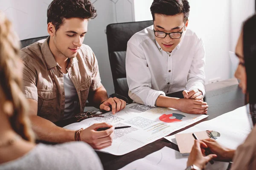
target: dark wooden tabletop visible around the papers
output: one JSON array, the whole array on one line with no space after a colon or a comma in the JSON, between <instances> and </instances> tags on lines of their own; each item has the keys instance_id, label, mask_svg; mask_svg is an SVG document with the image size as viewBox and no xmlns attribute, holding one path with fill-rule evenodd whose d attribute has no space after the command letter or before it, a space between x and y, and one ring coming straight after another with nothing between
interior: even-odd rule
<instances>
[{"instance_id":1,"label":"dark wooden tabletop visible around the papers","mask_svg":"<svg viewBox=\"0 0 256 170\"><path fill-rule=\"evenodd\" d=\"M180 131L188 129L200 122L207 121L213 119L221 114L227 113L229 111L233 111L236 108L239 108L244 105L244 94L242 94L241 89L238 87L238 83L236 79L229 79L222 82L217 82L213 84L206 85L207 92L204 100L208 103L208 115L206 119L203 119L193 125L185 127L181 130L178 130L170 135L174 135ZM182 98L182 92L176 92L174 94L170 94L169 96L180 97ZM65 126L67 123L72 122L62 122L60 126ZM135 161L137 159L141 159L147 156L150 153L153 153L157 150L162 149L164 146L170 147L172 149L178 150L176 144L169 142L168 140L162 138L155 142L145 145L137 150L134 150L131 153L127 153L122 156L114 156L108 153L98 152L97 154L102 161L103 167L105 170L118 170L125 165Z\"/></svg>"}]
</instances>

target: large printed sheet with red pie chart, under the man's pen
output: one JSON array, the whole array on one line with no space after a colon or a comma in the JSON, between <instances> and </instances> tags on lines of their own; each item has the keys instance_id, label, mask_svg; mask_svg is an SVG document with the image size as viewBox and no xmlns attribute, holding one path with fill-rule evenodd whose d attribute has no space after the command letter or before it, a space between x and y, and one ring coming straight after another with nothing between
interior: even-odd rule
<instances>
[{"instance_id":1,"label":"large printed sheet with red pie chart, under the man's pen","mask_svg":"<svg viewBox=\"0 0 256 170\"><path fill-rule=\"evenodd\" d=\"M85 119L64 128L77 130L101 122L107 122L114 127L131 126L116 129L112 145L99 150L113 155L124 155L207 117L207 115L186 114L171 108L152 108L137 103L127 105L125 109L114 115L109 112L103 116L105 117Z\"/></svg>"}]
</instances>

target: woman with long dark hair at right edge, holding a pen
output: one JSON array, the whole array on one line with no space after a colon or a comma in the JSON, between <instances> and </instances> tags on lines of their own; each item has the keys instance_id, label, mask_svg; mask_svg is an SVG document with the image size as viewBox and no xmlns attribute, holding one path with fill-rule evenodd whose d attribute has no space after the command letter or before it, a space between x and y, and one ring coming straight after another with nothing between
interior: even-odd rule
<instances>
[{"instance_id":1,"label":"woman with long dark hair at right edge, holding a pen","mask_svg":"<svg viewBox=\"0 0 256 170\"><path fill-rule=\"evenodd\" d=\"M243 31L236 45L236 55L239 66L235 77L240 79L239 86L245 94L245 103L249 103L248 115L252 131L237 150L222 147L214 139L195 140L187 162L188 170L202 170L211 159L218 161L232 161L231 170L256 169L256 90L255 90L255 65L256 65L256 15L244 22ZM212 154L204 156L204 148L208 147Z\"/></svg>"}]
</instances>

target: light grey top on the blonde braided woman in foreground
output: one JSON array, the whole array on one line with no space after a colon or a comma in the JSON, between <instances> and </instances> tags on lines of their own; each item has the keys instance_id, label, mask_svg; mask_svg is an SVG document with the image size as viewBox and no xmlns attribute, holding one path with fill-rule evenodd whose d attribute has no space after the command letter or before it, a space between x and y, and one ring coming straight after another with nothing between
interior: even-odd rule
<instances>
[{"instance_id":1,"label":"light grey top on the blonde braided woman in foreground","mask_svg":"<svg viewBox=\"0 0 256 170\"><path fill-rule=\"evenodd\" d=\"M0 164L0 170L103 170L99 157L84 142L38 144L26 155Z\"/></svg>"}]
</instances>

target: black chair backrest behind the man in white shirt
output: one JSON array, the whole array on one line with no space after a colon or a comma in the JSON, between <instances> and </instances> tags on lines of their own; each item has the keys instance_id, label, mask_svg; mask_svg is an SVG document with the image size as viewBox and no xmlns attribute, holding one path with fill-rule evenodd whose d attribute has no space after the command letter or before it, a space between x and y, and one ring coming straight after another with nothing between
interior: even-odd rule
<instances>
[{"instance_id":1,"label":"black chair backrest behind the man in white shirt","mask_svg":"<svg viewBox=\"0 0 256 170\"><path fill-rule=\"evenodd\" d=\"M115 23L107 26L108 57L111 66L115 93L127 97L128 84L125 71L127 42L137 32L153 25L153 21Z\"/></svg>"}]
</instances>

